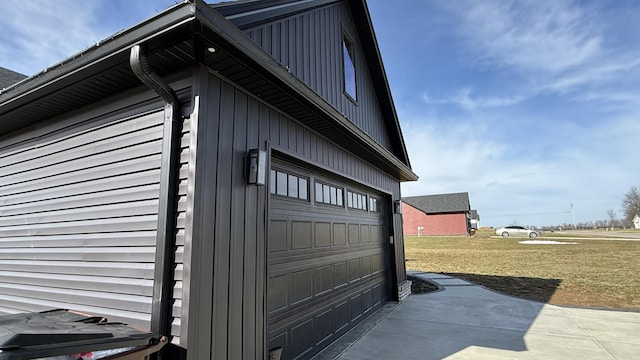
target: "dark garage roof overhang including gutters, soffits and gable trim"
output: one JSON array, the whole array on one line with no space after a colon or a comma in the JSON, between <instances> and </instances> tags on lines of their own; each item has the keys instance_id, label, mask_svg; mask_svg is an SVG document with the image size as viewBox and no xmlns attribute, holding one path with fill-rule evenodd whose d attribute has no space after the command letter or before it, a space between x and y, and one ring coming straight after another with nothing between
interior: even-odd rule
<instances>
[{"instance_id":1,"label":"dark garage roof overhang including gutters, soffits and gable trim","mask_svg":"<svg viewBox=\"0 0 640 360\"><path fill-rule=\"evenodd\" d=\"M337 1L346 1L352 12L392 149L378 144L301 80L291 76L238 27ZM262 99L314 130L321 129L316 131L397 179L417 180L411 170L365 0L240 1L214 7L202 0L182 1L17 85L0 90L0 134L140 86L129 65L130 49L137 44L146 48L149 65L159 76L198 63L214 68L221 76L260 94ZM210 47L216 49L215 53L206 50Z\"/></svg>"}]
</instances>

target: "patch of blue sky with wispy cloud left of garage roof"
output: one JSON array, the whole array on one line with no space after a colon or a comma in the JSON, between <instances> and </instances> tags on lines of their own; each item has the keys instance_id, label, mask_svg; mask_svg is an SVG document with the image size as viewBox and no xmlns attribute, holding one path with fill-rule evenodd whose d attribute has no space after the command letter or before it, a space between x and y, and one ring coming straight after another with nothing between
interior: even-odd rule
<instances>
[{"instance_id":1,"label":"patch of blue sky with wispy cloud left of garage roof","mask_svg":"<svg viewBox=\"0 0 640 360\"><path fill-rule=\"evenodd\" d=\"M34 75L178 0L2 0L0 66Z\"/></svg>"}]
</instances>

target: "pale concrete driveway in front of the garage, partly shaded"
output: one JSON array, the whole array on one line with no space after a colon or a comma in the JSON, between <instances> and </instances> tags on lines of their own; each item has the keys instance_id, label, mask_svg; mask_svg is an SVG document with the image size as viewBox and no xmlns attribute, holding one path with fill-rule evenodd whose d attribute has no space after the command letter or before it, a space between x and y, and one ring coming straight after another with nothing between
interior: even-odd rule
<instances>
[{"instance_id":1,"label":"pale concrete driveway in front of the garage, partly shaded","mask_svg":"<svg viewBox=\"0 0 640 360\"><path fill-rule=\"evenodd\" d=\"M522 300L440 274L318 359L640 359L640 312Z\"/></svg>"}]
</instances>

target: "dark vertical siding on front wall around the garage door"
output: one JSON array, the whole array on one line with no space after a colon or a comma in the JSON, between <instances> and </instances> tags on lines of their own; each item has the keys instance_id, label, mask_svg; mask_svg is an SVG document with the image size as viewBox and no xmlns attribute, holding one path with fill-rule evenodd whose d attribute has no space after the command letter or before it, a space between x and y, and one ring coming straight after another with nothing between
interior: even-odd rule
<instances>
[{"instance_id":1,"label":"dark vertical siding on front wall around the garage door","mask_svg":"<svg viewBox=\"0 0 640 360\"><path fill-rule=\"evenodd\" d=\"M197 359L262 358L267 347L263 343L267 278L264 211L269 194L268 188L245 184L243 159L247 150L265 149L269 143L281 153L392 199L399 199L400 186L397 179L276 108L206 68L201 71L206 81L194 88L190 122L192 173L185 221L186 238L191 240L185 254L191 254L191 261L184 271L191 275L185 274L190 283L184 284L189 294L188 303L183 299L182 310L190 316L188 325L182 324L183 329L188 328L188 339L181 341L185 341L189 356Z\"/></svg>"}]
</instances>

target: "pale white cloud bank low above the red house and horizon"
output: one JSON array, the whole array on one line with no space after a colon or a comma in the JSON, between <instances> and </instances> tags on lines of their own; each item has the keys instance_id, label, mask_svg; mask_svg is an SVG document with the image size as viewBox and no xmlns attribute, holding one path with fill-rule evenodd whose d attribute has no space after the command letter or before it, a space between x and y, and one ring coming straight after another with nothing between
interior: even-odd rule
<instances>
[{"instance_id":1,"label":"pale white cloud bank low above the red house and horizon","mask_svg":"<svg viewBox=\"0 0 640 360\"><path fill-rule=\"evenodd\" d=\"M637 119L591 128L558 121L548 135L512 143L473 116L408 122L405 141L420 180L404 183L403 196L466 191L484 225L542 226L571 223L571 203L578 222L604 218L637 183L630 151L640 133ZM545 148L553 155L540 156Z\"/></svg>"}]
</instances>

